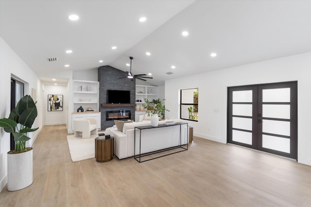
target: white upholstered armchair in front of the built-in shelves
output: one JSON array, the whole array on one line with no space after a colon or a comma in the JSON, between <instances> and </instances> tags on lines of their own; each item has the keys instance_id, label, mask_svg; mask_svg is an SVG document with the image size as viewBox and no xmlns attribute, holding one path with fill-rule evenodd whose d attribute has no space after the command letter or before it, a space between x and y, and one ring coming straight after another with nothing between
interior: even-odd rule
<instances>
[{"instance_id":1,"label":"white upholstered armchair in front of the built-in shelves","mask_svg":"<svg viewBox=\"0 0 311 207\"><path fill-rule=\"evenodd\" d=\"M91 135L98 135L97 120L93 118L75 119L73 120L74 136L79 136L82 132L82 138L90 138Z\"/></svg>"}]
</instances>

